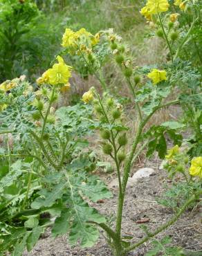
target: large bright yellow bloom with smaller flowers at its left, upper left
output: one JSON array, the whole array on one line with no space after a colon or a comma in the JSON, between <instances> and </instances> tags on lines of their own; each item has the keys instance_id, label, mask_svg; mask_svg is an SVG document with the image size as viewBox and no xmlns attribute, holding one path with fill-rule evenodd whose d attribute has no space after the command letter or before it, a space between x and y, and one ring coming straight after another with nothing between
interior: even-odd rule
<instances>
[{"instance_id":1,"label":"large bright yellow bloom with smaller flowers at its left, upper left","mask_svg":"<svg viewBox=\"0 0 202 256\"><path fill-rule=\"evenodd\" d=\"M37 84L68 84L68 79L71 77L71 66L65 64L62 57L57 56L57 64L49 68L37 79Z\"/></svg>"}]
</instances>

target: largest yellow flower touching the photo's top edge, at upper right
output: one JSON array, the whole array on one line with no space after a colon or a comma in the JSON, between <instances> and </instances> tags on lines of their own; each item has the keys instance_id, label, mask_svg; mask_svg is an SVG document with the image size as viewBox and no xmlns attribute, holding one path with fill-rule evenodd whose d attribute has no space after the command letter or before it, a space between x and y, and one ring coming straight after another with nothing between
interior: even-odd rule
<instances>
[{"instance_id":1,"label":"largest yellow flower touching the photo's top edge, at upper right","mask_svg":"<svg viewBox=\"0 0 202 256\"><path fill-rule=\"evenodd\" d=\"M157 14L158 12L166 12L169 8L167 0L147 0L147 8L150 14Z\"/></svg>"}]
</instances>

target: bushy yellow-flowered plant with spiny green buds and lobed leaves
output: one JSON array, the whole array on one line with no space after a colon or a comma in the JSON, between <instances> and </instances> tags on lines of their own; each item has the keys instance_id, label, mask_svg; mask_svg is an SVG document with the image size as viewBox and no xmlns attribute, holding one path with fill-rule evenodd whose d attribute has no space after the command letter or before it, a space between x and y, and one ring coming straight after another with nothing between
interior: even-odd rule
<instances>
[{"instance_id":1,"label":"bushy yellow-flowered plant with spiny green buds and lobed leaves","mask_svg":"<svg viewBox=\"0 0 202 256\"><path fill-rule=\"evenodd\" d=\"M167 0L148 0L141 10L165 40L167 63L161 66L136 66L122 38L112 29L92 35L84 28L77 31L66 28L62 38L64 51L57 56L57 63L37 79L37 91L33 91L24 77L0 85L0 132L6 138L1 149L3 167L0 178L2 255L6 251L21 255L25 247L31 250L48 226L51 226L54 237L68 234L71 245L79 241L83 247L93 246L99 237L98 230L102 229L115 256L125 256L150 239L155 247L147 255L160 253L162 248L165 255L183 253L182 248L167 246L170 243L167 237L161 241L155 237L175 223L188 207L196 205L202 194L200 147L197 144L197 150L193 150L193 146L187 144L185 149L181 148L185 141L182 132L186 129L185 124L195 131L196 143L201 140L198 98L201 95L201 76L196 62L188 64L182 57L198 18L192 16L187 31L173 31L178 28L174 24L178 14L167 15L167 11L178 6L182 10L181 16L187 15L184 13L187 2L193 8L199 3L175 0L169 6ZM182 40L177 40L178 35ZM82 96L84 104L55 111L60 92L71 88L68 79L72 67L61 55L71 57L71 65L83 76L94 75L104 92L99 94L91 87ZM113 97L102 73L102 67L109 62L116 63L122 74L136 112L131 126L136 125L137 129L130 140L131 127L125 122L127 109ZM187 108L191 111L184 120L149 125L149 120L158 110L173 104L187 113L187 100L190 101ZM190 117L193 119L189 120ZM104 183L91 173L96 163L92 165L84 150L87 143L84 136L93 130L100 131L102 152L116 167L118 208L115 223L107 223L106 218L89 205L89 201L111 196ZM12 134L12 143L6 134ZM174 144L169 149L167 136ZM181 179L159 200L174 209L173 217L156 230L143 226L145 237L132 243L131 237L122 236L122 212L132 166L143 150L147 157L158 152L160 158L166 159L168 176L179 175ZM170 199L174 197L171 205Z\"/></svg>"}]
</instances>

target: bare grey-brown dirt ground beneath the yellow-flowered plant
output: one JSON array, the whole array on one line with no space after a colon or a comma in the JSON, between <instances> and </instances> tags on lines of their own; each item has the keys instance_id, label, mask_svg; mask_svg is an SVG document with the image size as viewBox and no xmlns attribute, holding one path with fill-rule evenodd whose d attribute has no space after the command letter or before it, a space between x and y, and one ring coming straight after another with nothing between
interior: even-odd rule
<instances>
[{"instance_id":1,"label":"bare grey-brown dirt ground beneath the yellow-flowered plant","mask_svg":"<svg viewBox=\"0 0 202 256\"><path fill-rule=\"evenodd\" d=\"M149 178L143 178L131 188L127 190L125 200L125 210L123 214L122 235L134 236L134 241L138 241L144 236L140 224L136 223L139 219L149 219L146 223L149 230L154 231L161 224L172 218L173 212L162 205L156 203L156 197L165 191L165 171L159 170L158 158L152 162L139 163L134 172L139 167L152 167L155 172ZM106 179L106 176L105 176ZM107 176L107 183L110 183L113 176ZM116 212L116 202L118 193L116 188L113 189L113 198L105 200L103 203L93 203L95 208L100 212L113 217ZM158 238L169 235L172 237L173 244L182 246L187 250L202 250L202 224L201 224L202 208L195 210L187 210L181 219L163 233ZM147 253L149 243L145 243L129 255L143 256ZM40 239L38 244L30 253L24 253L24 256L110 256L110 250L105 244L104 238L100 236L98 243L93 248L81 249L79 246L70 248L67 238L50 237L50 230L46 232L44 237ZM200 253L199 253L200 255ZM199 256L198 255L198 256ZM201 253L202 255L202 253Z\"/></svg>"}]
</instances>

